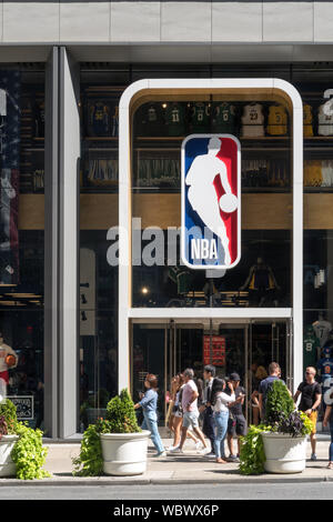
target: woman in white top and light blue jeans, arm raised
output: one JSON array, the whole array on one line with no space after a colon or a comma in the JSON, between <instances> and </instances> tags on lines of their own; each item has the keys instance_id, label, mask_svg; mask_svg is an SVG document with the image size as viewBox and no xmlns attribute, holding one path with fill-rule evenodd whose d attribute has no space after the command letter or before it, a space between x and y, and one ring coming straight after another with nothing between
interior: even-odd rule
<instances>
[{"instance_id":1,"label":"woman in white top and light blue jeans, arm raised","mask_svg":"<svg viewBox=\"0 0 333 522\"><path fill-rule=\"evenodd\" d=\"M216 425L215 433L215 455L219 464L225 464L226 460L224 456L224 439L228 430L229 419L229 406L233 405L242 400L240 395L235 399L233 384L231 381L228 382L230 389L230 395L224 393L225 381L223 379L214 379L212 388L212 408L214 412L214 420Z\"/></svg>"}]
</instances>

